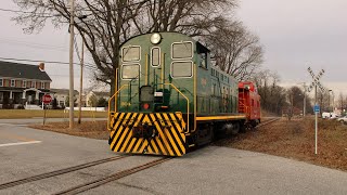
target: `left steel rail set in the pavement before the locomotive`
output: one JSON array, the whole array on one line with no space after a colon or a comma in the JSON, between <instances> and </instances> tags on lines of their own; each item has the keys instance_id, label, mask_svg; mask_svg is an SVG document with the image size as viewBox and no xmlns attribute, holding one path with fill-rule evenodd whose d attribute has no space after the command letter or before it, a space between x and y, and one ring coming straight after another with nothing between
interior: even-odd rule
<instances>
[{"instance_id":1,"label":"left steel rail set in the pavement before the locomotive","mask_svg":"<svg viewBox=\"0 0 347 195\"><path fill-rule=\"evenodd\" d=\"M42 174L33 176L29 178L24 178L21 180L11 181L8 183L2 183L2 184L0 184L0 190L13 187L16 185L21 185L21 184L25 184L25 183L29 183L29 182L34 182L34 181L38 181L38 180L43 180L43 179L60 176L60 174L65 174L68 172L77 171L77 170L85 169L85 168L92 167L92 166L97 166L100 164L105 164L105 162L118 160L118 159L126 158L126 157L128 157L128 156L115 156L115 157L111 157L111 158L104 158L104 159L90 161L87 164L81 164L81 165L65 168L65 169L60 169L60 170L55 170L55 171L51 171L51 172L47 172L47 173L42 173Z\"/></svg>"}]
</instances>

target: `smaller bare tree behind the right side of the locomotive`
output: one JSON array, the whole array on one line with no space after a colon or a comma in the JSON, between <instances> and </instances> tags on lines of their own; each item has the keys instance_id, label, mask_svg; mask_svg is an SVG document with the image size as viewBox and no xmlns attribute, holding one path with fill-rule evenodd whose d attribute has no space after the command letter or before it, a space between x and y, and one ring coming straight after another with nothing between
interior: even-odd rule
<instances>
[{"instance_id":1,"label":"smaller bare tree behind the right side of the locomotive","mask_svg":"<svg viewBox=\"0 0 347 195\"><path fill-rule=\"evenodd\" d=\"M216 65L239 80L248 79L262 63L264 50L259 38L240 22L221 20L208 37Z\"/></svg>"}]
</instances>

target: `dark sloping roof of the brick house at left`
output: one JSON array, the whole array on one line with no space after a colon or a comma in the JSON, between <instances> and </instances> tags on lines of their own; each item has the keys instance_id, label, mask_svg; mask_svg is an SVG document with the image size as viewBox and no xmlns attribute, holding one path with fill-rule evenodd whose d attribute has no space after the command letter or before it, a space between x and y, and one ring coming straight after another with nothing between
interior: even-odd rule
<instances>
[{"instance_id":1,"label":"dark sloping roof of the brick house at left","mask_svg":"<svg viewBox=\"0 0 347 195\"><path fill-rule=\"evenodd\" d=\"M46 72L41 72L38 65L18 64L0 61L0 77L50 80Z\"/></svg>"}]
</instances>

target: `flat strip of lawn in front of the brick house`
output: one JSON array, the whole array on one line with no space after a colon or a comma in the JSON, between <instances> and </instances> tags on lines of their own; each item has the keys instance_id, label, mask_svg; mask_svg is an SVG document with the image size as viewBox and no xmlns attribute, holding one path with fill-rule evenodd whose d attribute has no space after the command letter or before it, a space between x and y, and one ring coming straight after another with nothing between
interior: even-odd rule
<instances>
[{"instance_id":1,"label":"flat strip of lawn in front of the brick house","mask_svg":"<svg viewBox=\"0 0 347 195\"><path fill-rule=\"evenodd\" d=\"M64 109L47 109L46 116L48 118L68 118L68 110ZM74 116L78 117L78 110L74 112ZM107 112L89 112L81 113L83 118L106 118ZM29 110L29 109L0 109L0 119L16 119L16 118L33 118L43 117L43 110Z\"/></svg>"}]
</instances>

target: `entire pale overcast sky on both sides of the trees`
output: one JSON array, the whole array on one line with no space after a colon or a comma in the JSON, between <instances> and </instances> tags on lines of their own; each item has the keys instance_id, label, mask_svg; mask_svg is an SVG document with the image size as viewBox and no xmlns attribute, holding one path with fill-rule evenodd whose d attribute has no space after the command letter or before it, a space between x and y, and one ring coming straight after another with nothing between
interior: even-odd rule
<instances>
[{"instance_id":1,"label":"entire pale overcast sky on both sides of the trees","mask_svg":"<svg viewBox=\"0 0 347 195\"><path fill-rule=\"evenodd\" d=\"M18 10L12 0L1 2L1 9ZM277 72L283 86L309 83L310 66L316 74L325 69L323 86L347 94L346 8L347 0L240 0L236 16L260 37L262 66ZM10 21L13 15L0 11L0 57L68 62L67 29L49 25L38 35L24 35L22 26ZM68 88L68 65L47 64L47 72L52 87ZM77 89L77 67L75 75Z\"/></svg>"}]
</instances>

